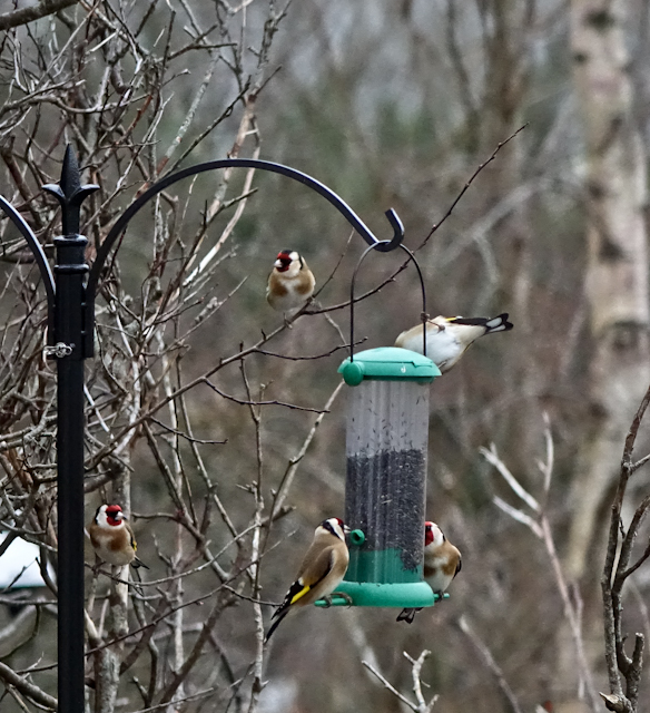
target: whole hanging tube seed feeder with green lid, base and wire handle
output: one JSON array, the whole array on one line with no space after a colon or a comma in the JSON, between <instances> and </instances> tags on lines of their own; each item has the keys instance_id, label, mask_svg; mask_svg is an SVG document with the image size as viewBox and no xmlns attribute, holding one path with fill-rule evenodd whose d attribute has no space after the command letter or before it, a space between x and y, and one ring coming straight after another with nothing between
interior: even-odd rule
<instances>
[{"instance_id":1,"label":"whole hanging tube seed feeder with green lid, base and wire handle","mask_svg":"<svg viewBox=\"0 0 650 713\"><path fill-rule=\"evenodd\" d=\"M422 275L421 284L425 306ZM352 533L349 566L332 604L349 604L336 596L344 593L353 606L432 606L437 595L423 579L424 510L429 392L440 370L426 356L390 346L351 351L338 371L351 387L345 522Z\"/></svg>"}]
</instances>

